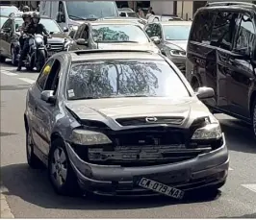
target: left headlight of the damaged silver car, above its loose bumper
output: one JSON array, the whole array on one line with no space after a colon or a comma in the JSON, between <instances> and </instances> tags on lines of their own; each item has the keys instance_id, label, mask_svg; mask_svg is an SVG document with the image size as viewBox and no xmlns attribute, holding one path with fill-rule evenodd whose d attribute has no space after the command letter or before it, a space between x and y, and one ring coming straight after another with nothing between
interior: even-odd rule
<instances>
[{"instance_id":1,"label":"left headlight of the damaged silver car, above its loose bumper","mask_svg":"<svg viewBox=\"0 0 256 220\"><path fill-rule=\"evenodd\" d=\"M105 134L82 129L73 130L71 134L71 140L74 144L80 145L99 145L112 143L109 137Z\"/></svg>"}]
</instances>

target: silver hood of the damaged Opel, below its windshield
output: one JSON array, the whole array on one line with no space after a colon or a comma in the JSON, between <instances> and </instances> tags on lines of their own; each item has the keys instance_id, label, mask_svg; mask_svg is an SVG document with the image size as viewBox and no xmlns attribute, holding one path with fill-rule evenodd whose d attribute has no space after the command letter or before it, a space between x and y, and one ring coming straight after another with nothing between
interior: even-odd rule
<instances>
[{"instance_id":1,"label":"silver hood of the damaged Opel, below its windshield","mask_svg":"<svg viewBox=\"0 0 256 220\"><path fill-rule=\"evenodd\" d=\"M67 101L65 106L82 120L96 120L115 130L116 118L181 116L190 120L208 116L209 110L196 97L109 98Z\"/></svg>"}]
</instances>

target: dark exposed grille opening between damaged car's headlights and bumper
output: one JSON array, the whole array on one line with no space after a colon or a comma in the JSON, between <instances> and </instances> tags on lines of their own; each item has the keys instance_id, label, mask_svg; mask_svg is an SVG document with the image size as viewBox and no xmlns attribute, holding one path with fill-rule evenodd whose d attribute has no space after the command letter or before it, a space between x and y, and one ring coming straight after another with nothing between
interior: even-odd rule
<instances>
[{"instance_id":1,"label":"dark exposed grille opening between damaged car's headlights and bumper","mask_svg":"<svg viewBox=\"0 0 256 220\"><path fill-rule=\"evenodd\" d=\"M180 162L211 151L210 148L187 147L182 130L146 128L108 134L114 144L89 147L89 160L96 164L150 166Z\"/></svg>"}]
</instances>

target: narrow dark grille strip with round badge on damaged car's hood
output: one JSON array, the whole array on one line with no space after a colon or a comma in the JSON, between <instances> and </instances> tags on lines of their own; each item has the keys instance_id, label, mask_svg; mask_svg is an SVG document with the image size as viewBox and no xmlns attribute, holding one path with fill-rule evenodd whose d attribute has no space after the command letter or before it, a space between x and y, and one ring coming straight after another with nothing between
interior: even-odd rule
<instances>
[{"instance_id":1,"label":"narrow dark grille strip with round badge on damaged car's hood","mask_svg":"<svg viewBox=\"0 0 256 220\"><path fill-rule=\"evenodd\" d=\"M172 124L181 125L184 121L184 117L155 117L156 121L150 122L150 124ZM148 125L146 117L133 117L133 118L117 118L115 121L121 126L138 126Z\"/></svg>"}]
</instances>

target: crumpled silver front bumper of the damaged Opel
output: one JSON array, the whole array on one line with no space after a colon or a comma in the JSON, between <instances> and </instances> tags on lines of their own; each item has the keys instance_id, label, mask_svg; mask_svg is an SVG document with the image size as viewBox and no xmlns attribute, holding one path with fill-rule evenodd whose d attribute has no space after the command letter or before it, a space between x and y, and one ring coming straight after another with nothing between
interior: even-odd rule
<instances>
[{"instance_id":1,"label":"crumpled silver front bumper of the damaged Opel","mask_svg":"<svg viewBox=\"0 0 256 220\"><path fill-rule=\"evenodd\" d=\"M81 187L101 195L153 195L153 191L138 186L144 177L182 190L192 190L224 183L228 174L229 155L223 145L215 151L190 160L164 165L121 167L90 164L80 159L66 143L70 163Z\"/></svg>"}]
</instances>

